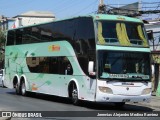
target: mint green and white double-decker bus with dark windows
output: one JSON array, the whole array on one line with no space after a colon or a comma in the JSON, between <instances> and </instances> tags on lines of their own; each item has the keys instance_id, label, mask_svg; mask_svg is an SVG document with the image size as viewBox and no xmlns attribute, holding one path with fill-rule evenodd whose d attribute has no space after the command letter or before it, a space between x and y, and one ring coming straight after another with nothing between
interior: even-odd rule
<instances>
[{"instance_id":1,"label":"mint green and white double-decker bus with dark windows","mask_svg":"<svg viewBox=\"0 0 160 120\"><path fill-rule=\"evenodd\" d=\"M11 29L5 85L93 102L149 102L150 48L143 22L116 15L78 16Z\"/></svg>"}]
</instances>

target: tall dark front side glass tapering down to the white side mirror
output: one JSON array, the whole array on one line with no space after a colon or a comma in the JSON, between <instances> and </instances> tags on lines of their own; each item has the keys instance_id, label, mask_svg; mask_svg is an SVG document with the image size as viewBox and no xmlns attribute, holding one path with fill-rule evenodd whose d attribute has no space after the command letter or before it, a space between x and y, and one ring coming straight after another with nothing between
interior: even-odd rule
<instances>
[{"instance_id":1,"label":"tall dark front side glass tapering down to the white side mirror","mask_svg":"<svg viewBox=\"0 0 160 120\"><path fill-rule=\"evenodd\" d=\"M77 18L74 49L83 72L88 75L88 62L96 61L92 18Z\"/></svg>"}]
</instances>

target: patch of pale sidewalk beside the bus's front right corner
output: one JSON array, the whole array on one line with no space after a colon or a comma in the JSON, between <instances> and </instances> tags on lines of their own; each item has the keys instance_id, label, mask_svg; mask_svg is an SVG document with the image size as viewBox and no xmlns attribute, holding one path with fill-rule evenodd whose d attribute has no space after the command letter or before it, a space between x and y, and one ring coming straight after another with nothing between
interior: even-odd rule
<instances>
[{"instance_id":1,"label":"patch of pale sidewalk beside the bus's front right corner","mask_svg":"<svg viewBox=\"0 0 160 120\"><path fill-rule=\"evenodd\" d=\"M155 107L155 108L159 108L160 109L160 97L152 96L151 97L151 102L149 102L149 103L147 103L147 102L139 102L139 103L136 103L136 104L147 106L147 107Z\"/></svg>"}]
</instances>

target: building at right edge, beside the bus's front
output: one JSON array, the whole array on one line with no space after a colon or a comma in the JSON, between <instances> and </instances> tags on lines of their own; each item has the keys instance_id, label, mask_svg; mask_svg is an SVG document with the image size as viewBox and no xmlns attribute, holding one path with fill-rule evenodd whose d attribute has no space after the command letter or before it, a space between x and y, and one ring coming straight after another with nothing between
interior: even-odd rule
<instances>
[{"instance_id":1,"label":"building at right edge, beside the bus's front","mask_svg":"<svg viewBox=\"0 0 160 120\"><path fill-rule=\"evenodd\" d=\"M152 65L154 66L153 92L160 96L160 20L152 20L145 24L147 31L153 32L153 40L149 41L152 51Z\"/></svg>"}]
</instances>

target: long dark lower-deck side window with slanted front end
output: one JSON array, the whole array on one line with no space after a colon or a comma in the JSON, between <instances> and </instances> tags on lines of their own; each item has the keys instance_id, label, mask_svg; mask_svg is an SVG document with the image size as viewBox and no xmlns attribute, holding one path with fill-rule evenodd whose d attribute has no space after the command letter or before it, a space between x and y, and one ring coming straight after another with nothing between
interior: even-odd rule
<instances>
[{"instance_id":1,"label":"long dark lower-deck side window with slanted front end","mask_svg":"<svg viewBox=\"0 0 160 120\"><path fill-rule=\"evenodd\" d=\"M32 73L72 75L73 69L67 57L27 57Z\"/></svg>"}]
</instances>

